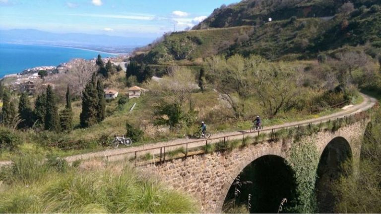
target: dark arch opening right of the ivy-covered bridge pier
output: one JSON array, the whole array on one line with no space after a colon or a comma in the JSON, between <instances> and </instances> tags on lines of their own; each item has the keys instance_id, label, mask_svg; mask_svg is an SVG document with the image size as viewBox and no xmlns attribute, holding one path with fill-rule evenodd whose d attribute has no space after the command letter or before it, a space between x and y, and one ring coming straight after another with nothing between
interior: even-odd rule
<instances>
[{"instance_id":1,"label":"dark arch opening right of the ivy-covered bridge pier","mask_svg":"<svg viewBox=\"0 0 381 214\"><path fill-rule=\"evenodd\" d=\"M345 173L342 165L348 159L352 160L352 156L350 143L341 136L331 139L322 151L317 168L318 178L315 182L319 213L334 212L335 198L331 192L331 184Z\"/></svg>"}]
</instances>

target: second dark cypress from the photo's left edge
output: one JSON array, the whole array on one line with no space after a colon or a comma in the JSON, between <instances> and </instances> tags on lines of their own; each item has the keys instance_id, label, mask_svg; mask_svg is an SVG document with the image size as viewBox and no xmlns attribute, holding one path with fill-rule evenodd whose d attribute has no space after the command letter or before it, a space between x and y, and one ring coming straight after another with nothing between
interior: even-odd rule
<instances>
[{"instance_id":1,"label":"second dark cypress from the photo's left edge","mask_svg":"<svg viewBox=\"0 0 381 214\"><path fill-rule=\"evenodd\" d=\"M22 120L18 127L26 128L33 126L33 111L30 105L30 100L26 93L21 93L20 100L18 102L18 114L20 115L20 119Z\"/></svg>"}]
</instances>

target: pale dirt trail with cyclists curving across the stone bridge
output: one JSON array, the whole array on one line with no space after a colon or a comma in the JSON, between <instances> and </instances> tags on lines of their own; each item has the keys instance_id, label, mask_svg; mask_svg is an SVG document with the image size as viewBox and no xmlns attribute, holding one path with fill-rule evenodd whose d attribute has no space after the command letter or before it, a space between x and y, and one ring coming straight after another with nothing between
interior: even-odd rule
<instances>
[{"instance_id":1,"label":"pale dirt trail with cyclists curving across the stone bridge","mask_svg":"<svg viewBox=\"0 0 381 214\"><path fill-rule=\"evenodd\" d=\"M267 133L267 132L270 132L272 128L282 128L282 127L288 127L288 126L306 125L309 123L314 124L314 123L325 122L325 121L340 118L340 117L350 116L350 115L356 114L358 112L366 111L366 110L372 108L376 104L377 100L375 98L369 97L365 94L361 94L361 95L364 97L364 101L362 103L357 104L357 105L353 105L350 107L348 106L343 111L340 111L340 112L337 112L337 113L334 113L331 115L315 118L315 119L309 119L309 120L303 120L303 121L298 121L298 122L285 123L282 125L265 127L261 132ZM250 133L248 130L219 132L219 133L213 134L212 139L209 139L208 143L218 142L220 139L215 139L215 138L221 138L222 137L222 139L223 139L224 136L229 136L229 140L242 139L243 133L245 133L245 136L255 136L257 134L257 132ZM237 135L237 136L230 136L230 135ZM127 157L126 153L130 153L129 156L132 156L132 154L134 155L134 152L140 151L139 155L142 155L142 154L144 154L144 151L141 151L141 150L149 150L149 149L152 149L149 151L151 154L159 154L160 153L160 147L171 146L171 145L176 145L176 144L181 144L181 143L190 143L190 142L195 142L195 141L198 141L198 140L182 138L182 139L176 139L176 140L170 140L170 141L164 141L164 142L158 142L158 143L150 143L150 144L145 144L145 145L136 146L136 147L128 147L128 148L122 148L122 149L109 149L109 150L105 150L105 151L101 151L101 152L90 152L90 153L81 154L81 155L73 155L73 156L66 157L65 160L68 162L73 162L73 161L81 160L81 159L82 160L88 160L88 159L92 159L92 158L118 157L118 156L119 156L118 159L121 159L121 158ZM198 146L202 146L204 144L205 144L205 140L203 140L203 141L201 140L199 143L190 144L188 149L198 147ZM167 148L167 152L170 150L177 149L179 147L182 147L182 146L177 146L177 147L173 146L171 148ZM11 164L10 161L0 162L0 166L1 165L9 165L9 164Z\"/></svg>"}]
</instances>

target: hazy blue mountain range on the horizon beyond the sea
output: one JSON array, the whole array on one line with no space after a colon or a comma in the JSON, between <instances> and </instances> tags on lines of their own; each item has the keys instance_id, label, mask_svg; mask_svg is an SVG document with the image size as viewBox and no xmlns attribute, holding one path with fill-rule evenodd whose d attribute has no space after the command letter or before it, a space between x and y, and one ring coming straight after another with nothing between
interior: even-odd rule
<instances>
[{"instance_id":1,"label":"hazy blue mountain range on the horizon beyond the sea","mask_svg":"<svg viewBox=\"0 0 381 214\"><path fill-rule=\"evenodd\" d=\"M50 33L33 29L0 30L0 43L62 45L74 47L137 47L152 42L152 38L117 37L81 33Z\"/></svg>"}]
</instances>

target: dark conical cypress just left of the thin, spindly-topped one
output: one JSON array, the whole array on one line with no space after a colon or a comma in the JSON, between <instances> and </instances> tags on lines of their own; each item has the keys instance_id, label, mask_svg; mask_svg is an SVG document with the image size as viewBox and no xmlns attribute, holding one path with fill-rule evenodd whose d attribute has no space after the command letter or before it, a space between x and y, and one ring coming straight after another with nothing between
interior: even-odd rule
<instances>
[{"instance_id":1,"label":"dark conical cypress just left of the thin, spindly-topped one","mask_svg":"<svg viewBox=\"0 0 381 214\"><path fill-rule=\"evenodd\" d=\"M46 88L45 130L60 131L60 118L52 86Z\"/></svg>"}]
</instances>

